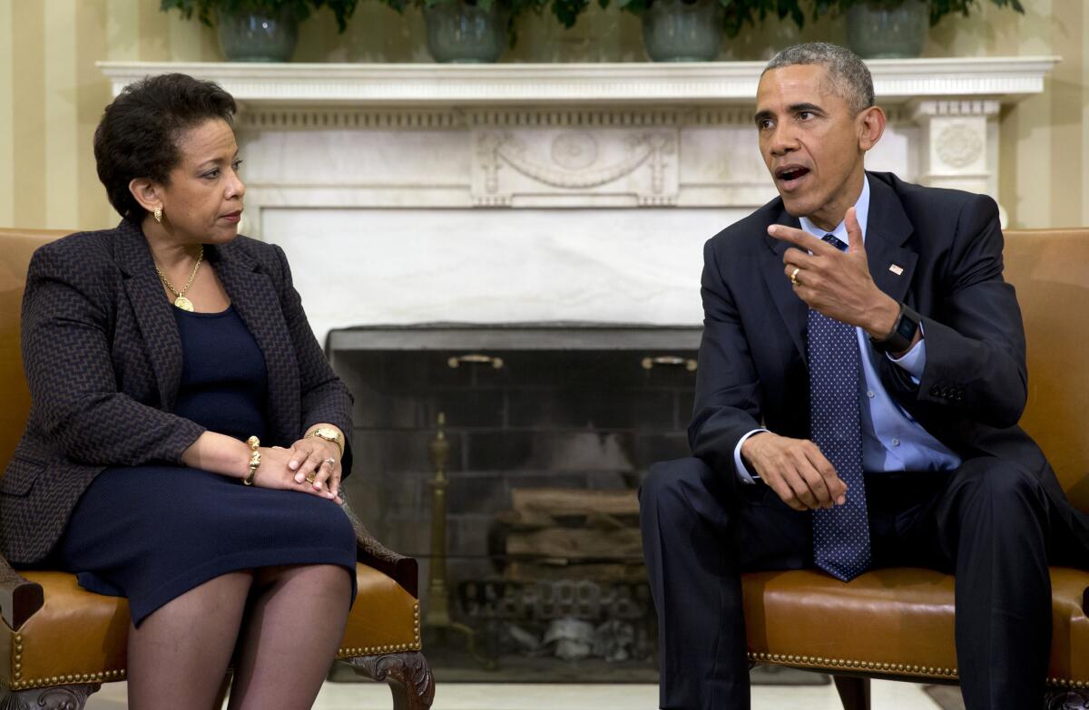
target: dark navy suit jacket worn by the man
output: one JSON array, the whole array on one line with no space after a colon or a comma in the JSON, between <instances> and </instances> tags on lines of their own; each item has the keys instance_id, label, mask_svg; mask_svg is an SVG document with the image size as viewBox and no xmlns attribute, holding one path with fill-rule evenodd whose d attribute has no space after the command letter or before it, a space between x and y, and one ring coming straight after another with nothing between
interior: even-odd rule
<instances>
[{"instance_id":1,"label":"dark navy suit jacket worn by the man","mask_svg":"<svg viewBox=\"0 0 1089 710\"><path fill-rule=\"evenodd\" d=\"M1017 426L1025 408L1025 332L1002 279L998 206L986 195L921 187L867 173L866 252L878 287L922 316L927 362L915 384L878 358L890 395L962 458L1000 456L1033 472L1076 540L1087 516L1066 500L1043 452ZM705 246L703 338L688 439L693 453L734 476L734 449L760 426L808 439L808 307L783 272L785 242L770 224L799 227L776 198ZM900 267L902 273L891 270Z\"/></svg>"}]
</instances>

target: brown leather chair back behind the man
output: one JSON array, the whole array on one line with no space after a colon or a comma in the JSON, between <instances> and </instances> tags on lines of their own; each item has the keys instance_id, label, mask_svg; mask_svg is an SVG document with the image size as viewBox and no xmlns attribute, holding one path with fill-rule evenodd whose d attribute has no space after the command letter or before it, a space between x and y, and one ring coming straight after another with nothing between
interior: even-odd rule
<instances>
[{"instance_id":1,"label":"brown leather chair back behind the man","mask_svg":"<svg viewBox=\"0 0 1089 710\"><path fill-rule=\"evenodd\" d=\"M1020 424L1089 512L1089 229L1008 231L1005 240L1005 278L1028 339Z\"/></svg>"}]
</instances>

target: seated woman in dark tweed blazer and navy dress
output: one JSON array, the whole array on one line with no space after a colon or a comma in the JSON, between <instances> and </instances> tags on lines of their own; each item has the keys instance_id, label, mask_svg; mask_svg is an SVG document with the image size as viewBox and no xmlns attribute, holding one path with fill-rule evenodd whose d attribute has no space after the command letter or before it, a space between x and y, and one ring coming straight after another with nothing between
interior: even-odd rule
<instances>
[{"instance_id":1,"label":"seated woman in dark tweed blazer and navy dress","mask_svg":"<svg viewBox=\"0 0 1089 710\"><path fill-rule=\"evenodd\" d=\"M24 296L3 551L129 597L137 709L210 708L229 664L231 708L309 707L354 598L351 395L283 252L237 235L234 111L180 74L127 87L95 135L124 219L40 248Z\"/></svg>"}]
</instances>

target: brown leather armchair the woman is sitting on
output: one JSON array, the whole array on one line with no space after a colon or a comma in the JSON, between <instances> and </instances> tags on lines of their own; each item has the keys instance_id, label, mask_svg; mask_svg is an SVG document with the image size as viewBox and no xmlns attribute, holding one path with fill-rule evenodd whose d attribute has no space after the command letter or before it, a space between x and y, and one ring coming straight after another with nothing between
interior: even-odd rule
<instances>
[{"instance_id":1,"label":"brown leather armchair the woman is sitting on","mask_svg":"<svg viewBox=\"0 0 1089 710\"><path fill-rule=\"evenodd\" d=\"M30 406L19 340L26 269L34 249L66 233L0 230L0 472ZM427 710L435 681L420 652L416 561L387 550L348 516L358 593L337 658L389 683L396 710ZM125 599L84 591L74 575L15 571L0 556L0 616L2 708L78 710L102 683L125 678Z\"/></svg>"}]
</instances>

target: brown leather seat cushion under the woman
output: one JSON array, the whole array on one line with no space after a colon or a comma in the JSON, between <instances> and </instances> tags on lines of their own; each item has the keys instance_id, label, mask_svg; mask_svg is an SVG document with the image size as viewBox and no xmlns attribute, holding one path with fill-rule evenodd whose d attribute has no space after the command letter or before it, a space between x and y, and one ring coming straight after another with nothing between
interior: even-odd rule
<instances>
[{"instance_id":1,"label":"brown leather seat cushion under the woman","mask_svg":"<svg viewBox=\"0 0 1089 710\"><path fill-rule=\"evenodd\" d=\"M75 575L23 572L45 605L12 631L0 624L0 683L33 688L125 677L129 602L82 589ZM356 565L358 592L338 658L419 648L419 602L384 574Z\"/></svg>"}]
</instances>

